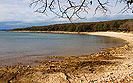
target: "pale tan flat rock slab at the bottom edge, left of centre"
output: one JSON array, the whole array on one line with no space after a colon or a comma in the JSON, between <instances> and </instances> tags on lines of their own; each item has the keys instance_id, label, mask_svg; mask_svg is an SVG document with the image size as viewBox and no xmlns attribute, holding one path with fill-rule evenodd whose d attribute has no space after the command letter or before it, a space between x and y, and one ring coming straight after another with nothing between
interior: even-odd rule
<instances>
[{"instance_id":1,"label":"pale tan flat rock slab at the bottom edge, left of centre","mask_svg":"<svg viewBox=\"0 0 133 83\"><path fill-rule=\"evenodd\" d=\"M43 71L26 72L26 75L10 81L11 83L69 83L64 73L44 74Z\"/></svg>"}]
</instances>

